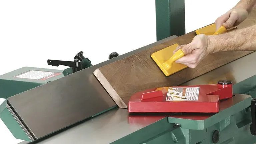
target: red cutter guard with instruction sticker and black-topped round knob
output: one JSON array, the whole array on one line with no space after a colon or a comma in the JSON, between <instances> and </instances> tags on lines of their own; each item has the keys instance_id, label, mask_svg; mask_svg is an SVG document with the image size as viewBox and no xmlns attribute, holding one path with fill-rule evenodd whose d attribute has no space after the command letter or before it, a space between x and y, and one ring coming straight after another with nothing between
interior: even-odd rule
<instances>
[{"instance_id":1,"label":"red cutter guard with instruction sticker and black-topped round knob","mask_svg":"<svg viewBox=\"0 0 256 144\"><path fill-rule=\"evenodd\" d=\"M210 85L161 87L132 95L128 110L130 113L217 113L219 101L232 97L232 81L229 80L220 80Z\"/></svg>"}]
</instances>

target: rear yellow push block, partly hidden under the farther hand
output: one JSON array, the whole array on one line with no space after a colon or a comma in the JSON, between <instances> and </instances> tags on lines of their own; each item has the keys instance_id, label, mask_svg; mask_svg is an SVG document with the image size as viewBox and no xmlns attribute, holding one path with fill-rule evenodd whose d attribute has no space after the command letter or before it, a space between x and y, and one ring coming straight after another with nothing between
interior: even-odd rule
<instances>
[{"instance_id":1,"label":"rear yellow push block, partly hidden under the farther hand","mask_svg":"<svg viewBox=\"0 0 256 144\"><path fill-rule=\"evenodd\" d=\"M211 24L206 27L200 28L196 30L196 34L205 34L205 35L218 35L218 34L223 34L227 32L227 29L224 26L221 26L217 31L216 31L216 25Z\"/></svg>"}]
</instances>

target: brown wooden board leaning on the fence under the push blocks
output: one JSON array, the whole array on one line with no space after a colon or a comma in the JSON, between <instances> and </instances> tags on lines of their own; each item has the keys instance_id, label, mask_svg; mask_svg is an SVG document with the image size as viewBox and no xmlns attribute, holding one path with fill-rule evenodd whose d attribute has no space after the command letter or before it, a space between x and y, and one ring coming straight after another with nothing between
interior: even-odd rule
<instances>
[{"instance_id":1,"label":"brown wooden board leaning on the fence under the push blocks","mask_svg":"<svg viewBox=\"0 0 256 144\"><path fill-rule=\"evenodd\" d=\"M242 22L238 29L256 24L256 10ZM150 55L175 43L188 44L196 36L195 31L152 46L147 50L115 61L95 70L94 75L120 108L127 108L130 97L139 91L156 87L177 86L222 65L239 59L251 51L218 52L207 56L197 68L186 68L166 77Z\"/></svg>"}]
</instances>

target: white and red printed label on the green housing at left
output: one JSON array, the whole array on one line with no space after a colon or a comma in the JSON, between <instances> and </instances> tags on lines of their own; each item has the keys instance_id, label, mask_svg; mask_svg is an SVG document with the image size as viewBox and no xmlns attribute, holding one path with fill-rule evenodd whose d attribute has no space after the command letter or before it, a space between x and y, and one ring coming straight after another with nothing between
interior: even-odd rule
<instances>
[{"instance_id":1,"label":"white and red printed label on the green housing at left","mask_svg":"<svg viewBox=\"0 0 256 144\"><path fill-rule=\"evenodd\" d=\"M47 71L37 71L31 70L23 74L15 76L16 78L26 78L26 79L36 79L36 80L47 80L49 78L60 75L61 73L47 72Z\"/></svg>"}]
</instances>

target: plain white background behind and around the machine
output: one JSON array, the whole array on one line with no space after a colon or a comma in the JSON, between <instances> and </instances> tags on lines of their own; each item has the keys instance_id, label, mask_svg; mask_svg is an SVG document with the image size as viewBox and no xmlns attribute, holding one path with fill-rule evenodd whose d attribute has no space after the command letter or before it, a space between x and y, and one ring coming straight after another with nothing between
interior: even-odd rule
<instances>
[{"instance_id":1,"label":"plain white background behind and around the machine","mask_svg":"<svg viewBox=\"0 0 256 144\"><path fill-rule=\"evenodd\" d=\"M238 1L185 0L186 33L213 23ZM95 65L111 52L155 41L154 0L0 1L0 75L24 66L63 70L47 60L73 61L79 51ZM0 144L21 141L0 120Z\"/></svg>"}]
</instances>

